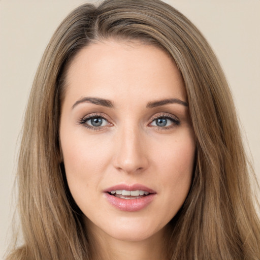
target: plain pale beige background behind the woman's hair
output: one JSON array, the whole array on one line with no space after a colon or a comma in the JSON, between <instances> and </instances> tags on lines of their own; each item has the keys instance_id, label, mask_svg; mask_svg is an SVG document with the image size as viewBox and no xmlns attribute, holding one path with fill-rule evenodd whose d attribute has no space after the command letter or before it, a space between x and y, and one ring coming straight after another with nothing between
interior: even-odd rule
<instances>
[{"instance_id":1,"label":"plain pale beige background behind the woman's hair","mask_svg":"<svg viewBox=\"0 0 260 260\"><path fill-rule=\"evenodd\" d=\"M10 234L17 139L29 89L55 28L84 2L0 0L1 258ZM260 180L260 0L165 2L196 24L216 52L233 91L245 143Z\"/></svg>"}]
</instances>

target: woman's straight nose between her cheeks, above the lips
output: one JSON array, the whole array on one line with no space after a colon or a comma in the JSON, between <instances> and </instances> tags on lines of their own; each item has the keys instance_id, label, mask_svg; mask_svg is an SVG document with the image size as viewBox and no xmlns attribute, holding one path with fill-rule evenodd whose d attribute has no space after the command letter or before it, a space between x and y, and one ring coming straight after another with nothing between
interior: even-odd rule
<instances>
[{"instance_id":1,"label":"woman's straight nose between her cheeks, above the lips","mask_svg":"<svg viewBox=\"0 0 260 260\"><path fill-rule=\"evenodd\" d=\"M125 173L140 173L148 168L148 149L138 127L122 129L116 137L114 167Z\"/></svg>"}]
</instances>

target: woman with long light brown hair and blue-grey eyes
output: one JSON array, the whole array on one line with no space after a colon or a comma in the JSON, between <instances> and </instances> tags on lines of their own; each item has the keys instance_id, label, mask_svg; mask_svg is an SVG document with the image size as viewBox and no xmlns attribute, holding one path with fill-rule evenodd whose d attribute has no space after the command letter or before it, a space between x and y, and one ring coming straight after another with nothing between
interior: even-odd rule
<instances>
[{"instance_id":1,"label":"woman with long light brown hair and blue-grey eyes","mask_svg":"<svg viewBox=\"0 0 260 260\"><path fill-rule=\"evenodd\" d=\"M24 246L9 259L260 259L228 84L167 4L74 10L44 53L23 133Z\"/></svg>"}]
</instances>

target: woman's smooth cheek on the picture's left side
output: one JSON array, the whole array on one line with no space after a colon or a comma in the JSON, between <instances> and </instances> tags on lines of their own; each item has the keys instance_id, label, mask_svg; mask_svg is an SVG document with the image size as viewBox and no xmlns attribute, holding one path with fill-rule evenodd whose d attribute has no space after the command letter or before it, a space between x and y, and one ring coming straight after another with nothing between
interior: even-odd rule
<instances>
[{"instance_id":1,"label":"woman's smooth cheek on the picture's left side","mask_svg":"<svg viewBox=\"0 0 260 260\"><path fill-rule=\"evenodd\" d=\"M78 130L80 129L80 131ZM67 182L74 200L80 206L99 188L102 173L109 161L109 147L86 135L82 127L63 127L60 143Z\"/></svg>"}]
</instances>

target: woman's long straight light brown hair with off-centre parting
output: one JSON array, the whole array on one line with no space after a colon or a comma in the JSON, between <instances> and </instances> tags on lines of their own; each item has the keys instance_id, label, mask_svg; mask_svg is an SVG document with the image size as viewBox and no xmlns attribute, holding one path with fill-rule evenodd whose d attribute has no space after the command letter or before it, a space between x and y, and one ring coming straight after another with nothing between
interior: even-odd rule
<instances>
[{"instance_id":1,"label":"woman's long straight light brown hair with off-centre parting","mask_svg":"<svg viewBox=\"0 0 260 260\"><path fill-rule=\"evenodd\" d=\"M108 39L164 49L185 83L196 163L185 203L168 224L169 259L259 260L258 204L250 187L255 175L228 83L201 32L159 0L84 4L55 31L36 73L23 125L17 180L24 244L7 259L94 258L83 213L66 181L59 119L71 60L90 43Z\"/></svg>"}]
</instances>

